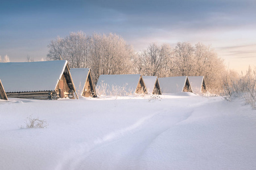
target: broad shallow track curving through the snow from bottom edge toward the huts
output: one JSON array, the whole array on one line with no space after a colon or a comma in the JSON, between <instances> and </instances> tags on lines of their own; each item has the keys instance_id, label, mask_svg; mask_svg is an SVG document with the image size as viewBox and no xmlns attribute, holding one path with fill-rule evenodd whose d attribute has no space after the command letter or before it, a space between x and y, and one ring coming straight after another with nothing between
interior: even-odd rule
<instances>
[{"instance_id":1,"label":"broad shallow track curving through the snow from bottom edge toward the huts","mask_svg":"<svg viewBox=\"0 0 256 170\"><path fill-rule=\"evenodd\" d=\"M72 148L71 152L76 154L67 153L67 157L56 169L138 168L140 158L150 143L167 129L186 120L192 112L192 108L175 108L143 117L126 128L96 139L92 145L81 143L78 147Z\"/></svg>"}]
</instances>

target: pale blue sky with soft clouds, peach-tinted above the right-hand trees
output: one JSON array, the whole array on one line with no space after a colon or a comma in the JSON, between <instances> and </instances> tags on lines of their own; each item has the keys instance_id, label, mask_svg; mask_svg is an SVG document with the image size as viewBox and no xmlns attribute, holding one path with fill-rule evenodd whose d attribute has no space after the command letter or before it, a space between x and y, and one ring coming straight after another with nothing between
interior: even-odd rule
<instances>
[{"instance_id":1,"label":"pale blue sky with soft clouds, peach-tinted above the right-hand trees","mask_svg":"<svg viewBox=\"0 0 256 170\"><path fill-rule=\"evenodd\" d=\"M121 35L136 51L152 42L211 45L229 69L256 67L255 0L0 0L0 56L46 59L70 32Z\"/></svg>"}]
</instances>

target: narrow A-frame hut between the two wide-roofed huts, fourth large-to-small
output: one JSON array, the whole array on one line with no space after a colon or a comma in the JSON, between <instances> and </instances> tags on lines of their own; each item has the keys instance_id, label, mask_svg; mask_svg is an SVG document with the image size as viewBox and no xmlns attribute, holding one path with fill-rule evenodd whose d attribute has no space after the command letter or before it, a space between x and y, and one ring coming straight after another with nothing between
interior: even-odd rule
<instances>
[{"instance_id":1,"label":"narrow A-frame hut between the two wide-roofed huts, fourth large-to-small","mask_svg":"<svg viewBox=\"0 0 256 170\"><path fill-rule=\"evenodd\" d=\"M157 76L142 76L147 92L153 95L162 95Z\"/></svg>"}]
</instances>

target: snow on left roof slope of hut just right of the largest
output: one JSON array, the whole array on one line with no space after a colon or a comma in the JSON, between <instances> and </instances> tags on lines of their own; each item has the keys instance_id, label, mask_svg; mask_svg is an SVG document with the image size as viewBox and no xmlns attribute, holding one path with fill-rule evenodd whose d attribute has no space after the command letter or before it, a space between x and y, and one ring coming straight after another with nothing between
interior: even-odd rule
<instances>
[{"instance_id":1,"label":"snow on left roof slope of hut just right of the largest","mask_svg":"<svg viewBox=\"0 0 256 170\"><path fill-rule=\"evenodd\" d=\"M70 69L76 91L82 94L90 69Z\"/></svg>"}]
</instances>

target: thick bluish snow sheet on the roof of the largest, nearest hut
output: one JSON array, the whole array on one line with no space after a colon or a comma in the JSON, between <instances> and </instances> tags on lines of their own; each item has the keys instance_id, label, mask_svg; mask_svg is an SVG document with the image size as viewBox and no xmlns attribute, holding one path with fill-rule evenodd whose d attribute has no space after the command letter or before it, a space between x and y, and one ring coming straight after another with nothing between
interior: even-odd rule
<instances>
[{"instance_id":1,"label":"thick bluish snow sheet on the roof of the largest, nearest hut","mask_svg":"<svg viewBox=\"0 0 256 170\"><path fill-rule=\"evenodd\" d=\"M0 63L6 92L54 91L67 61Z\"/></svg>"}]
</instances>

